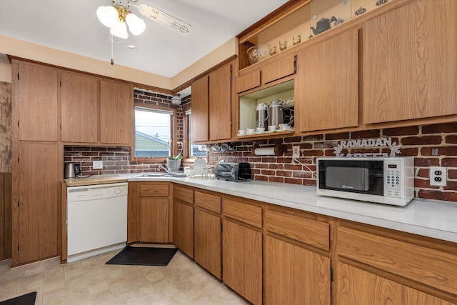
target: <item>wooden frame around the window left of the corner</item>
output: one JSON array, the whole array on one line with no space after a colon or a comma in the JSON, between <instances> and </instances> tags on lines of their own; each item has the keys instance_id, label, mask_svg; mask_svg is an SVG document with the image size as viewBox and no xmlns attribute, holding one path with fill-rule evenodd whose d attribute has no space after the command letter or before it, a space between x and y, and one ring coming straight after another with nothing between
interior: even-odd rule
<instances>
[{"instance_id":1,"label":"wooden frame around the window left of the corner","mask_svg":"<svg viewBox=\"0 0 457 305\"><path fill-rule=\"evenodd\" d=\"M133 120L133 140L131 144L131 154L130 154L130 161L132 163L157 163L157 162L164 162L168 156L161 156L161 157L154 157L154 158L145 158L139 157L136 158L135 156L135 108L144 108L144 109L152 109L152 110L159 110L159 111L169 111L173 112L171 118L171 154L177 154L177 144L176 144L176 136L178 134L178 111L176 108L173 107L166 107L166 106L159 106L159 105L150 105L144 103L134 103L134 120Z\"/></svg>"}]
</instances>

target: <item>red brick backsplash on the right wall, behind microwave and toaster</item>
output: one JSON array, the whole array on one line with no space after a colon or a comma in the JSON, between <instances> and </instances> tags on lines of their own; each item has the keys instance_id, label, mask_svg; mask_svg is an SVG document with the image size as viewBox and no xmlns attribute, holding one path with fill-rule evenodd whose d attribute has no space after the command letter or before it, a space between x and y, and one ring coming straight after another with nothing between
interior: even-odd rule
<instances>
[{"instance_id":1,"label":"red brick backsplash on the right wall, behind microwave and toaster","mask_svg":"<svg viewBox=\"0 0 457 305\"><path fill-rule=\"evenodd\" d=\"M288 150L284 156L253 156L251 148L254 142L235 142L234 144L237 146L235 152L209 153L209 164L215 165L221 160L249 162L256 180L316 186L314 174L316 157L334 156L333 147L341 140L381 136L391 137L392 141L401 145L399 156L415 157L416 197L457 201L457 123L255 141L261 147L274 146L277 143L283 144ZM292 159L292 146L296 145L300 146L301 157L298 160L306 164L308 169ZM432 155L432 149L436 149L436 156ZM389 149L346 149L342 151L344 154L357 152L381 153L389 152ZM447 186L430 186L428 166L446 166L448 168Z\"/></svg>"}]
</instances>

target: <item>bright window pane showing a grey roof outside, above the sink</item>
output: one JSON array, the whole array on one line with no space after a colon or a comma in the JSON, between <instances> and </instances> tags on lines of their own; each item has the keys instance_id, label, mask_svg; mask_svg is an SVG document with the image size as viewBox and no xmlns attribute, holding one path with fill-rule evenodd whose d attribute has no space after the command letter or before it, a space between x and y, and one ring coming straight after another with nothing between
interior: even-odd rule
<instances>
[{"instance_id":1,"label":"bright window pane showing a grey roof outside, above the sink","mask_svg":"<svg viewBox=\"0 0 457 305\"><path fill-rule=\"evenodd\" d=\"M176 154L176 110L160 106L135 106L134 158L164 159ZM156 160L155 160L156 161Z\"/></svg>"}]
</instances>

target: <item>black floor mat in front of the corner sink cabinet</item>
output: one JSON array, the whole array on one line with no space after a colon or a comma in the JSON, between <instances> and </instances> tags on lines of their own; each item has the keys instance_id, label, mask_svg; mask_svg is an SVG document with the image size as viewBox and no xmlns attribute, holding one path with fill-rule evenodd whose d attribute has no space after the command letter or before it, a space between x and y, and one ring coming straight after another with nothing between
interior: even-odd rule
<instances>
[{"instance_id":1,"label":"black floor mat in front of the corner sink cabinet","mask_svg":"<svg viewBox=\"0 0 457 305\"><path fill-rule=\"evenodd\" d=\"M177 248L126 246L124 250L106 261L110 265L166 266L173 259Z\"/></svg>"}]
</instances>

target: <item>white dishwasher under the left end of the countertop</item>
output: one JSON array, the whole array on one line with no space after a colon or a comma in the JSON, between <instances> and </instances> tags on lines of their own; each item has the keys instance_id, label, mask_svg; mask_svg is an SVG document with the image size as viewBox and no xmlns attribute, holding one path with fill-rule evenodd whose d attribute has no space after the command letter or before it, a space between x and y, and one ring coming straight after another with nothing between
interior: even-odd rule
<instances>
[{"instance_id":1,"label":"white dishwasher under the left end of the countertop","mask_svg":"<svg viewBox=\"0 0 457 305\"><path fill-rule=\"evenodd\" d=\"M126 246L127 191L127 183L66 189L68 262Z\"/></svg>"}]
</instances>

